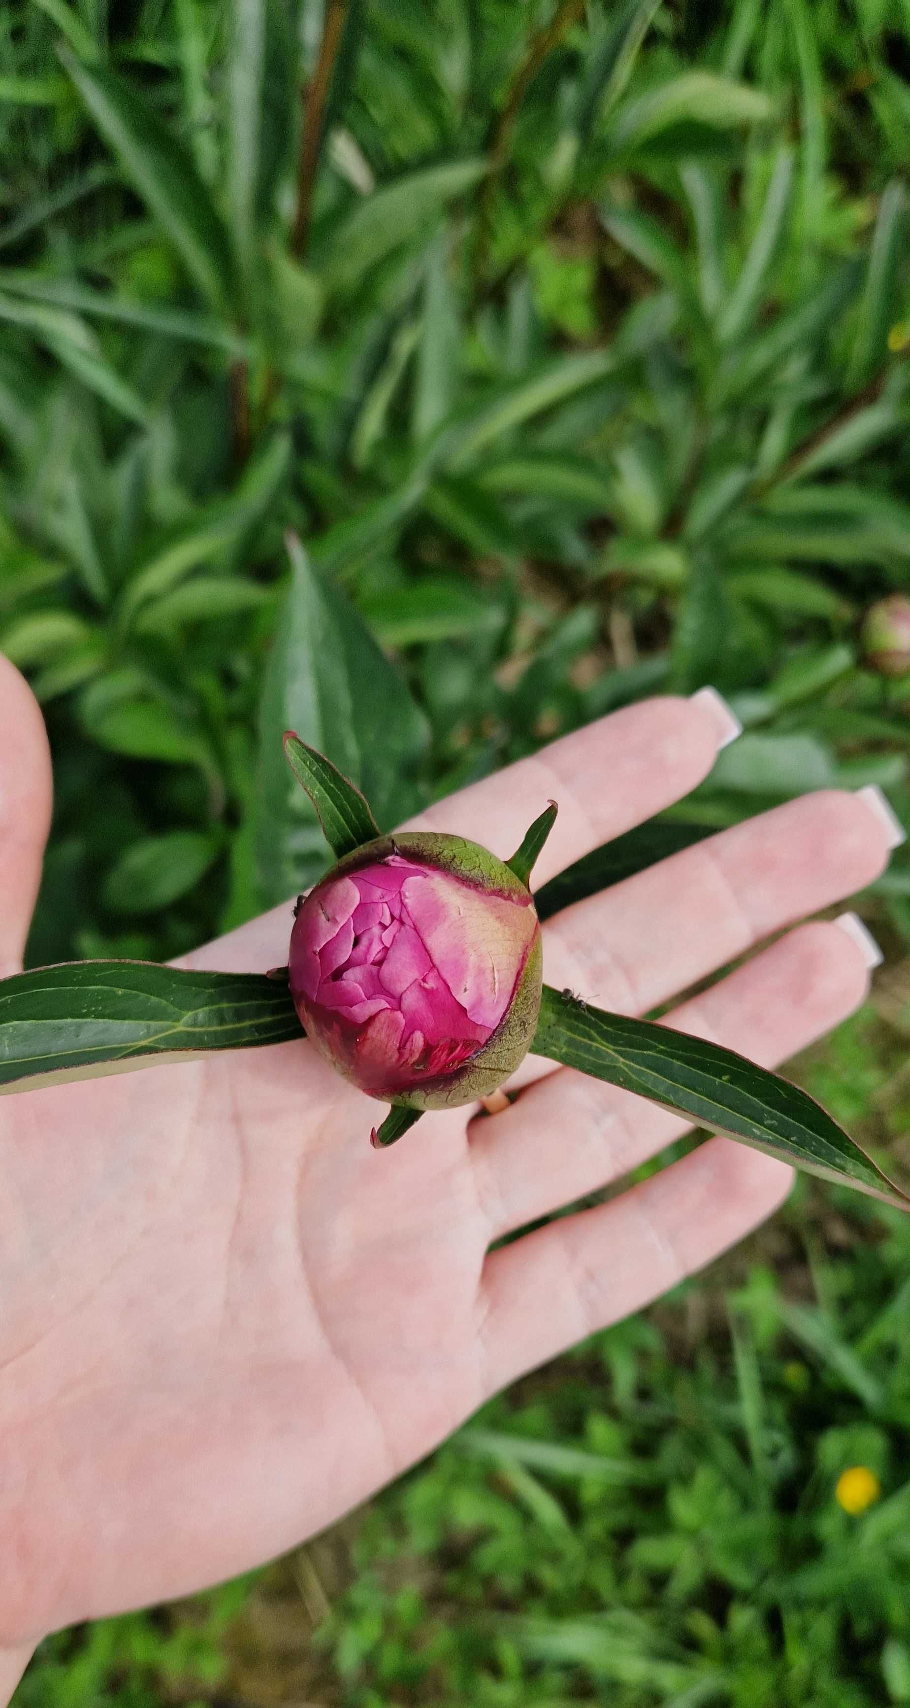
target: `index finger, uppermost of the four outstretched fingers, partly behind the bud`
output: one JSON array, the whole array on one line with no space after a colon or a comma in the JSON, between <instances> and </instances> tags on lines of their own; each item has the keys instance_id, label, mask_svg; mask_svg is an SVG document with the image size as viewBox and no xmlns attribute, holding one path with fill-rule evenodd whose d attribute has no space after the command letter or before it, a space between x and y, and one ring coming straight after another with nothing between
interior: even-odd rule
<instances>
[{"instance_id":1,"label":"index finger, uppermost of the four outstretched fingers, partly behind the bud","mask_svg":"<svg viewBox=\"0 0 910 1708\"><path fill-rule=\"evenodd\" d=\"M691 700L640 700L437 801L405 828L447 830L509 859L531 820L555 799L560 813L534 866L536 886L688 794L738 728L714 690ZM263 972L287 960L289 936L285 902L183 956L179 965Z\"/></svg>"}]
</instances>

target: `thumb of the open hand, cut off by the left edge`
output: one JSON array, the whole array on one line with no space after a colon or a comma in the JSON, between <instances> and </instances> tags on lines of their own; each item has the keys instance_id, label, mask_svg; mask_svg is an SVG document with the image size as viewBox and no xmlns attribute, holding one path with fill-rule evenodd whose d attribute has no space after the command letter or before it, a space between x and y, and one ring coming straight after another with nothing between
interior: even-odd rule
<instances>
[{"instance_id":1,"label":"thumb of the open hand, cut off by the left edge","mask_svg":"<svg viewBox=\"0 0 910 1708\"><path fill-rule=\"evenodd\" d=\"M0 979L22 967L51 822L51 753L38 700L0 656Z\"/></svg>"}]
</instances>

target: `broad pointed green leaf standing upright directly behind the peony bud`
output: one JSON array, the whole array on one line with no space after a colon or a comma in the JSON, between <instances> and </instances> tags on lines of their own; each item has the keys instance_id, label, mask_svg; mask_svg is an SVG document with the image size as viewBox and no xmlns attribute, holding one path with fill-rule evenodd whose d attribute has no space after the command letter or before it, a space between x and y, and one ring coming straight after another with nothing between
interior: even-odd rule
<instances>
[{"instance_id":1,"label":"broad pointed green leaf standing upright directly behind the peony bud","mask_svg":"<svg viewBox=\"0 0 910 1708\"><path fill-rule=\"evenodd\" d=\"M427 746L423 714L341 593L289 536L292 581L278 617L260 714L256 857L263 900L280 902L326 868L311 803L282 758L282 733L350 777L391 830L422 801L415 772Z\"/></svg>"}]
</instances>

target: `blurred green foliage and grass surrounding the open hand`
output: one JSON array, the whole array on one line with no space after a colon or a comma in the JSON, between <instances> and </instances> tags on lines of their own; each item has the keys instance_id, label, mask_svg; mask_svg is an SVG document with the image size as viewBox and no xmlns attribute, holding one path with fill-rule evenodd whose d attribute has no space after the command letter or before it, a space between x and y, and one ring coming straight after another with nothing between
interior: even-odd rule
<instances>
[{"instance_id":1,"label":"blurred green foliage and grass surrounding the open hand","mask_svg":"<svg viewBox=\"0 0 910 1708\"><path fill-rule=\"evenodd\" d=\"M910 581L908 135L907 0L9 0L29 960L164 958L311 881L289 724L388 827L712 681L746 733L673 816L879 782L910 823L910 687L857 656ZM907 856L867 909L879 1013L806 1074L900 1165ZM910 1237L845 1197L802 1184L726 1293L328 1542L51 1640L22 1708L910 1701Z\"/></svg>"}]
</instances>

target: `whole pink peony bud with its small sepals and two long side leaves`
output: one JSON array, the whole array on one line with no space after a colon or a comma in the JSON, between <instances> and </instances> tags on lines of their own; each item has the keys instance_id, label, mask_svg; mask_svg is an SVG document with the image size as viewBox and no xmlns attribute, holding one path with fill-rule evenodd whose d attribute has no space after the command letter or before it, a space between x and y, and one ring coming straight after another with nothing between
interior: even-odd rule
<instances>
[{"instance_id":1,"label":"whole pink peony bud with its small sepals and two long side leaves","mask_svg":"<svg viewBox=\"0 0 910 1708\"><path fill-rule=\"evenodd\" d=\"M423 1110L490 1097L533 1050L697 1127L910 1208L797 1086L717 1044L543 984L531 873L553 801L500 859L454 835L382 835L360 791L323 753L289 731L285 755L336 859L297 898L287 965L225 974L73 962L5 979L0 1091L306 1032L338 1073L391 1105L372 1129L384 1148ZM570 880L572 869L562 892Z\"/></svg>"}]
</instances>

